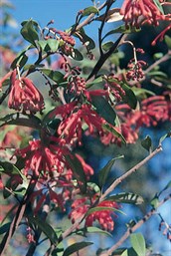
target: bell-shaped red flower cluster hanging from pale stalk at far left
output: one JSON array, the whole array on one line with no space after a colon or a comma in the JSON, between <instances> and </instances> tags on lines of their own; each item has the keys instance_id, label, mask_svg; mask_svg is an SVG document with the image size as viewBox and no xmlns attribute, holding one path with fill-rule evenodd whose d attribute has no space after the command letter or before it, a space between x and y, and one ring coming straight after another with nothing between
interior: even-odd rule
<instances>
[{"instance_id":1,"label":"bell-shaped red flower cluster hanging from pale stalk at far left","mask_svg":"<svg viewBox=\"0 0 171 256\"><path fill-rule=\"evenodd\" d=\"M33 82L28 78L16 79L16 70L11 75L11 91L8 107L16 111L35 114L44 109L44 99Z\"/></svg>"}]
</instances>

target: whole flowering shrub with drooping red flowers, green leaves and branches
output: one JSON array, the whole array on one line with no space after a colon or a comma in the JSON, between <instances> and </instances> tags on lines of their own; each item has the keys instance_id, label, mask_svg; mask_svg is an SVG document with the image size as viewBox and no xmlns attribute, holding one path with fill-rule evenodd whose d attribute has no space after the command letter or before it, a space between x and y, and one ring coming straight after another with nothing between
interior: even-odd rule
<instances>
[{"instance_id":1,"label":"whole flowering shrub with drooping red flowers, green leaves and branches","mask_svg":"<svg viewBox=\"0 0 171 256\"><path fill-rule=\"evenodd\" d=\"M66 31L56 29L54 20L44 28L35 20L23 21L20 37L27 46L17 56L11 51L10 59L7 58L4 46L0 47L5 70L0 81L3 108L0 189L4 200L12 196L16 199L15 210L10 210L10 222L6 223L8 214L0 216L0 233L4 234L1 255L8 251L10 240L20 225L27 231L26 255L34 255L39 244L44 243L42 233L49 241L45 255L68 256L75 252L81 255L79 251L91 243L76 242L67 248L63 245L61 249L62 242L78 232L86 236L89 227L92 232L111 232L116 216L119 218L124 213L124 203L143 203L138 194L116 193L114 189L157 154L162 149L162 140L170 136L168 130L154 151L149 136L142 140L149 155L109 185L107 178L111 167L122 156L112 158L97 174L79 151L85 137L98 138L105 145L122 146L135 143L140 129L171 121L169 79L160 71L159 76L155 75L156 67L171 57L171 39L166 35L171 14L165 10L170 3L124 0L121 8L114 8L113 3L117 1L106 0L101 5L92 2L93 6L78 12L75 24ZM118 20L121 25L116 28ZM154 45L158 39L164 40L167 52L148 66L143 56L139 59L139 54L145 55L141 42L135 48L128 35L138 33L144 26L160 27L161 21L166 22L164 30L147 43ZM99 22L98 44L85 32L86 25L93 22ZM104 32L107 22L111 22L114 29ZM112 34L119 36L114 42L106 41ZM120 46L124 51L125 44L131 47L132 57L123 69L116 54L120 53ZM85 69L87 59L89 66L94 63L90 69ZM37 75L41 87L35 79ZM159 85L161 90L148 90L144 82L149 83L150 88ZM96 255L145 256L143 236L131 233L170 199L170 195L160 199L169 187L170 183L156 194L151 210L141 220L128 224L126 233L117 243L111 248L102 248ZM70 226L57 231L59 226L52 225L49 216L59 212L68 215ZM164 223L170 239L170 227ZM118 249L130 235L131 248ZM141 252L137 249L137 240Z\"/></svg>"}]
</instances>

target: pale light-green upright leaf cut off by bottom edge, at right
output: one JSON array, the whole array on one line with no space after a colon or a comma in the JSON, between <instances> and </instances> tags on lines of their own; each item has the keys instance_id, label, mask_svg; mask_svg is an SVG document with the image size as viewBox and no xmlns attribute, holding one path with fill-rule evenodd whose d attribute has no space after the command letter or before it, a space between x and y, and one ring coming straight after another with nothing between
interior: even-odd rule
<instances>
[{"instance_id":1,"label":"pale light-green upright leaf cut off by bottom edge, at right","mask_svg":"<svg viewBox=\"0 0 171 256\"><path fill-rule=\"evenodd\" d=\"M138 256L146 255L145 239L141 233L131 234L130 242Z\"/></svg>"}]
</instances>

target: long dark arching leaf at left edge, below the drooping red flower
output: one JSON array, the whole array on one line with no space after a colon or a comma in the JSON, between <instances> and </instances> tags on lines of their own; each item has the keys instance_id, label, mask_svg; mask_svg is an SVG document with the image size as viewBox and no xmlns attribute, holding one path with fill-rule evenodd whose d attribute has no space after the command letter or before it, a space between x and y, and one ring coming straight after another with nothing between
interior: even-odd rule
<instances>
[{"instance_id":1,"label":"long dark arching leaf at left edge, below the drooping red flower","mask_svg":"<svg viewBox=\"0 0 171 256\"><path fill-rule=\"evenodd\" d=\"M23 126L28 128L37 128L37 129L41 128L40 119L38 119L35 116L23 118L23 115L19 113L9 114L1 118L0 122L3 122L3 124L1 124L0 127L3 127L5 125L17 125L17 126Z\"/></svg>"}]
</instances>

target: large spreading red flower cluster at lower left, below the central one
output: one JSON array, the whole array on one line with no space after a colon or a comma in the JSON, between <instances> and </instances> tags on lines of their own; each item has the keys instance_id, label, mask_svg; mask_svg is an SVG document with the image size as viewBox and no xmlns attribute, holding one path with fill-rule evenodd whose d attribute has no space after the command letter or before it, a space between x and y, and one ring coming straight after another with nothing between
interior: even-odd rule
<instances>
[{"instance_id":1,"label":"large spreading red flower cluster at lower left, below the central one","mask_svg":"<svg viewBox=\"0 0 171 256\"><path fill-rule=\"evenodd\" d=\"M47 144L41 139L29 141L29 145L22 149L17 149L15 155L21 155L26 158L25 175L32 171L36 176L42 173L43 176L47 177L53 175L56 171L58 173L63 172L66 164L64 158L66 151L68 149L63 147L62 142L60 143L58 138L52 136Z\"/></svg>"}]
</instances>

